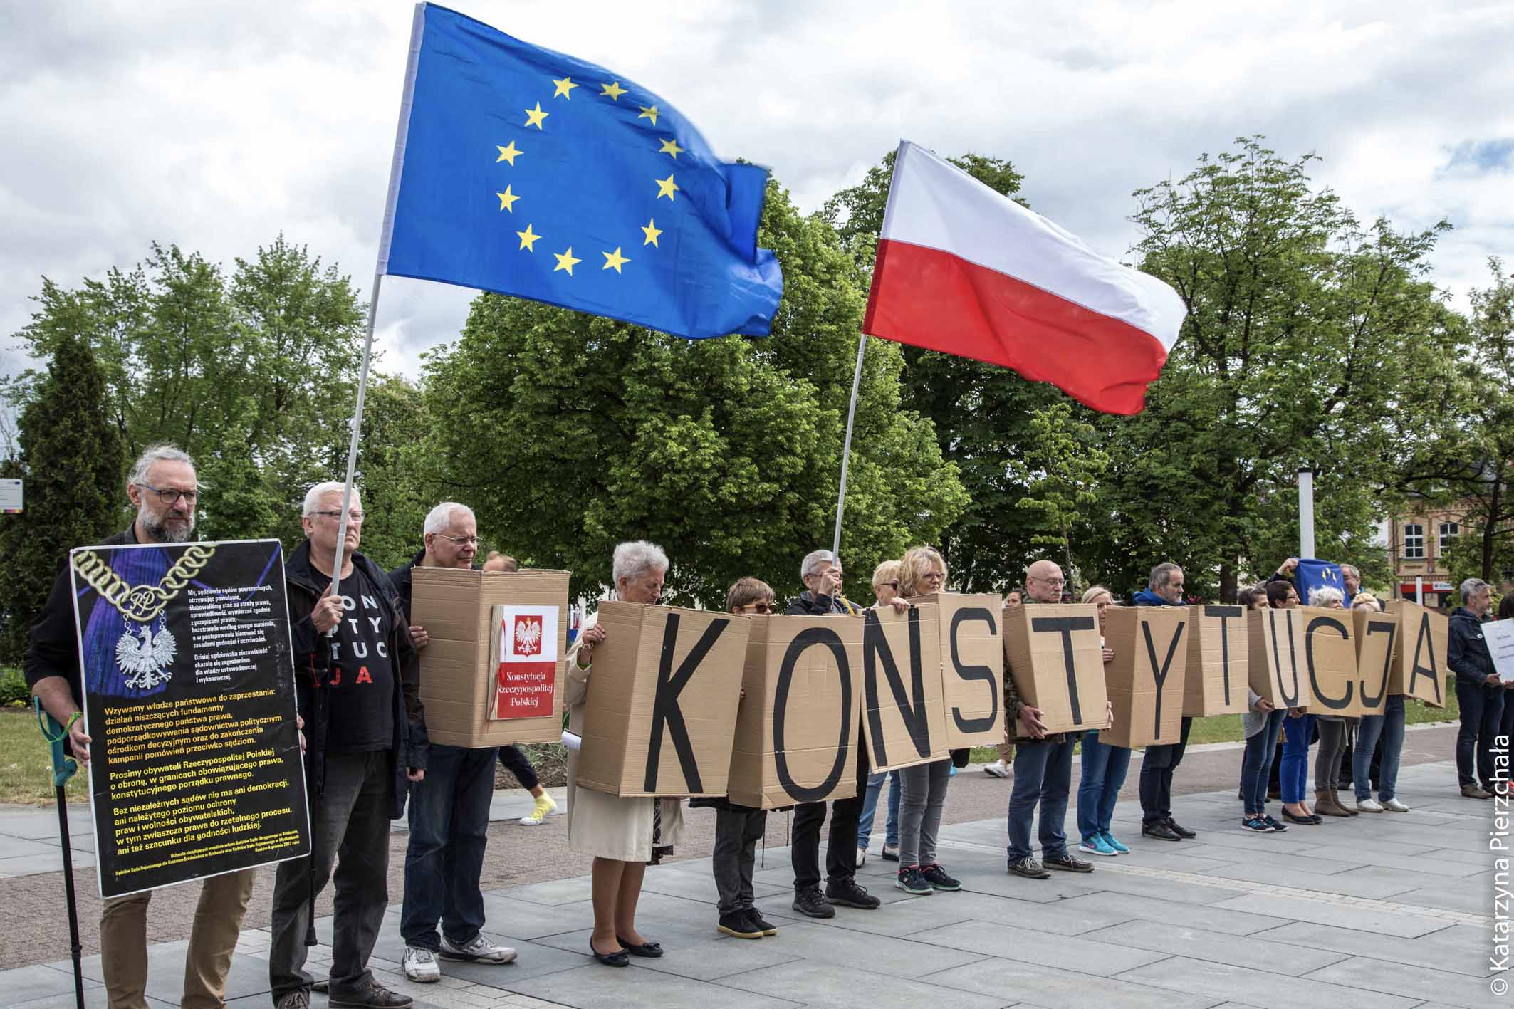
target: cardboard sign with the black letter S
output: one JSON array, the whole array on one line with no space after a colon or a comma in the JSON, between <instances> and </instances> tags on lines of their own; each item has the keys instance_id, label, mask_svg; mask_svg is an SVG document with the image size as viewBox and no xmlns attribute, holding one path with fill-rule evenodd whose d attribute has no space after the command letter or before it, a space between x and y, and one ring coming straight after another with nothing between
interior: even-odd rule
<instances>
[{"instance_id":1,"label":"cardboard sign with the black letter S","mask_svg":"<svg viewBox=\"0 0 1514 1009\"><path fill-rule=\"evenodd\" d=\"M1004 741L1004 599L942 591L911 602L940 614L946 749Z\"/></svg>"}]
</instances>

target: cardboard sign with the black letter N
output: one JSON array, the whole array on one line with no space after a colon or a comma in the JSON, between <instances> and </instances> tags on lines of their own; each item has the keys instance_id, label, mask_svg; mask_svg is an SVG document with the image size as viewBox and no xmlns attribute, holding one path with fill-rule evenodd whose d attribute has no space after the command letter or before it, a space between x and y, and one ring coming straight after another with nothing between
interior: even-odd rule
<instances>
[{"instance_id":1,"label":"cardboard sign with the black letter N","mask_svg":"<svg viewBox=\"0 0 1514 1009\"><path fill-rule=\"evenodd\" d=\"M861 631L861 731L872 770L943 761L940 607L866 610Z\"/></svg>"}]
</instances>

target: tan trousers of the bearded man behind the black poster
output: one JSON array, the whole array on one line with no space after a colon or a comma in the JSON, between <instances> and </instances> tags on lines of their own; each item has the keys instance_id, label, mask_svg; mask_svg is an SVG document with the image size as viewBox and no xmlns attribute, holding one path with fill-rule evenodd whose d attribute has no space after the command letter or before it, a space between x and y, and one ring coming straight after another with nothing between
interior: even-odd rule
<instances>
[{"instance_id":1,"label":"tan trousers of the bearded man behind the black poster","mask_svg":"<svg viewBox=\"0 0 1514 1009\"><path fill-rule=\"evenodd\" d=\"M200 883L189 950L185 953L183 1009L223 1009L232 952L253 896L257 870L212 876ZM153 891L111 897L100 912L100 968L111 1009L147 1006L147 905Z\"/></svg>"}]
</instances>

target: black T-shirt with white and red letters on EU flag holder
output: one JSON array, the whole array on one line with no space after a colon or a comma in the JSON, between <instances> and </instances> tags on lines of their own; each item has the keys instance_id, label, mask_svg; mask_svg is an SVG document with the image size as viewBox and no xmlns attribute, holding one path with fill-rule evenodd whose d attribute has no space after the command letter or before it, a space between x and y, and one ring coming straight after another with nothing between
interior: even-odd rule
<instances>
[{"instance_id":1,"label":"black T-shirt with white and red letters on EU flag holder","mask_svg":"<svg viewBox=\"0 0 1514 1009\"><path fill-rule=\"evenodd\" d=\"M342 579L342 620L332 635L326 749L366 753L394 746L394 658L389 607L360 569Z\"/></svg>"}]
</instances>

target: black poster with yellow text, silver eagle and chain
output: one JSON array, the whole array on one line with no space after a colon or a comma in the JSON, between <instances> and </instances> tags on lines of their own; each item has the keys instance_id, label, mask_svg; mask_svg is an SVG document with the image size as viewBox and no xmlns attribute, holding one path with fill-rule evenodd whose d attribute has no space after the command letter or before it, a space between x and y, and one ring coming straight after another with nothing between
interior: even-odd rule
<instances>
[{"instance_id":1,"label":"black poster with yellow text, silver eagle and chain","mask_svg":"<svg viewBox=\"0 0 1514 1009\"><path fill-rule=\"evenodd\" d=\"M70 554L101 897L310 852L277 540Z\"/></svg>"}]
</instances>

